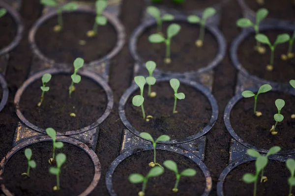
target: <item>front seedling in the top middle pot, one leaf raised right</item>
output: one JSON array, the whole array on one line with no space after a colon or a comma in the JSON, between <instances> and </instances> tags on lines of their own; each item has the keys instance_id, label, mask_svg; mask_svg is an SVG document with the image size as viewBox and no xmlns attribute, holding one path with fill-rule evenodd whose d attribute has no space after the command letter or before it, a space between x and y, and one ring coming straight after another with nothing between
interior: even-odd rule
<instances>
[{"instance_id":1,"label":"front seedling in the top middle pot, one leaf raised right","mask_svg":"<svg viewBox=\"0 0 295 196\"><path fill-rule=\"evenodd\" d=\"M171 38L175 35L177 35L177 33L180 30L180 25L177 24L171 24L168 26L167 28L167 39L165 39L163 37L163 35L161 35L160 33L155 33L155 34L151 34L148 37L149 42L151 43L161 43L161 42L165 42L166 44L166 56L164 59L164 62L169 64L171 63L171 58L170 58L170 44L171 44Z\"/></svg>"}]
</instances>

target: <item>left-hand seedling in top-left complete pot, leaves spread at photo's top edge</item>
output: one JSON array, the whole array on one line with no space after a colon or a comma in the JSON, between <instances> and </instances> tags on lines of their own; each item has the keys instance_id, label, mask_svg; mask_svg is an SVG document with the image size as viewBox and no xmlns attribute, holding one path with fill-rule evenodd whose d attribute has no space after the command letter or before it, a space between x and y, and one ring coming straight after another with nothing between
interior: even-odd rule
<instances>
[{"instance_id":1,"label":"left-hand seedling in top-left complete pot, leaves spread at photo's top edge","mask_svg":"<svg viewBox=\"0 0 295 196\"><path fill-rule=\"evenodd\" d=\"M61 6L57 0L40 0L40 3L46 6L56 7L58 12L58 25L55 25L53 28L55 32L59 32L63 28L62 11L73 11L78 8L75 2L69 2Z\"/></svg>"}]
</instances>

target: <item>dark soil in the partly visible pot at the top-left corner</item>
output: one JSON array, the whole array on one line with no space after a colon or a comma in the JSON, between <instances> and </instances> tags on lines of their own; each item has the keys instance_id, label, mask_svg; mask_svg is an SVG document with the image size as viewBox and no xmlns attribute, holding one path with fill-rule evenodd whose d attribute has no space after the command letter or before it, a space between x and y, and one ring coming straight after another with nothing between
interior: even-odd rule
<instances>
[{"instance_id":1,"label":"dark soil in the partly visible pot at the top-left corner","mask_svg":"<svg viewBox=\"0 0 295 196\"><path fill-rule=\"evenodd\" d=\"M2 8L2 7L0 7ZM0 50L7 47L15 38L16 35L16 23L12 16L6 12L6 14L0 18Z\"/></svg>"}]
</instances>

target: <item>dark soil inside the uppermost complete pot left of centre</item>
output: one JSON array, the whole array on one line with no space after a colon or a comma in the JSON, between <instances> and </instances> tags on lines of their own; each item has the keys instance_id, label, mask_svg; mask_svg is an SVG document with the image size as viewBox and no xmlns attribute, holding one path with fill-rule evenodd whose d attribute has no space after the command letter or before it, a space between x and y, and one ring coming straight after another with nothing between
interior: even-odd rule
<instances>
[{"instance_id":1,"label":"dark soil inside the uppermost complete pot left of centre","mask_svg":"<svg viewBox=\"0 0 295 196\"><path fill-rule=\"evenodd\" d=\"M81 57L89 62L104 57L115 47L117 34L110 23L98 26L98 36L89 38L86 33L92 30L94 15L75 12L64 13L62 17L64 27L60 32L53 31L57 17L46 21L36 32L37 47L48 58L58 63L73 63ZM80 45L80 40L86 41L86 45Z\"/></svg>"}]
</instances>

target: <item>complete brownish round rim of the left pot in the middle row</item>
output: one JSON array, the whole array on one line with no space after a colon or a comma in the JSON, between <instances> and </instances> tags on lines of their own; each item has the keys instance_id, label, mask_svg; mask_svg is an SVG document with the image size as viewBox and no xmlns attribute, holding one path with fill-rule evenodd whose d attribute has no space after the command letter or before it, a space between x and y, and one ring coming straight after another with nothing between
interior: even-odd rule
<instances>
[{"instance_id":1,"label":"complete brownish round rim of the left pot in the middle row","mask_svg":"<svg viewBox=\"0 0 295 196\"><path fill-rule=\"evenodd\" d=\"M19 117L19 119L25 123L27 126L29 126L31 129L41 132L41 133L45 133L46 131L43 128L40 128L32 123L30 123L25 116L23 115L23 113L20 110L19 107L19 103L20 103L20 99L21 96L23 94L23 92L26 90L26 88L28 88L28 86L35 82L36 80L40 79L42 77L43 74L45 73L51 73L51 74L63 74L63 73L72 73L71 69L57 69L57 68L51 68L48 70L44 70L38 73L33 74L32 76L30 76L24 83L23 85L17 90L15 97L14 97L14 104L16 107L16 114ZM88 77L89 79L91 79L93 82L95 82L97 85L101 86L107 96L107 104L106 104L106 109L104 111L104 113L102 114L102 116L100 116L94 123L84 127L84 128L80 128L77 130L71 130L71 131L66 131L65 133L60 133L57 132L57 135L73 135L73 134L78 134L78 133L83 133L85 131L89 131L90 129L93 129L94 127L98 126L100 123L102 123L111 113L111 110L113 108L114 105L114 98L113 98L113 92L111 90L111 88L109 87L108 83L106 81L104 81L104 79L102 79L100 76L98 76L97 74L91 73L89 71L86 70L82 70L82 71L78 71L79 74L81 74L84 77Z\"/></svg>"}]
</instances>

